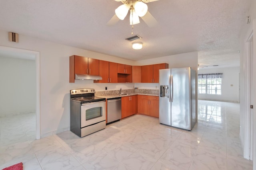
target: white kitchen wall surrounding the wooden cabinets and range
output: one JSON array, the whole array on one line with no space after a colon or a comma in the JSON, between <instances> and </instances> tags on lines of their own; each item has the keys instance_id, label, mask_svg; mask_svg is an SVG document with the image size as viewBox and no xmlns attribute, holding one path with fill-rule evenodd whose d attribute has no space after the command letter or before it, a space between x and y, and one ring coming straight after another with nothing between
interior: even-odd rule
<instances>
[{"instance_id":1,"label":"white kitchen wall surrounding the wooden cabinets and range","mask_svg":"<svg viewBox=\"0 0 256 170\"><path fill-rule=\"evenodd\" d=\"M16 31L18 33L18 31ZM116 63L135 64L134 61L104 55L92 51L86 51L74 47L68 47L57 43L43 41L40 39L19 35L19 43L8 41L8 32L0 31L0 45L26 49L40 52L40 127L41 137L67 131L70 128L70 96L69 90L76 88L95 88L98 91L130 89L134 87L133 83L123 84L96 84L92 80L75 80L75 83L69 83L69 56L80 55L94 59L112 61ZM194 63L197 64L197 52L193 53L196 57ZM183 55L180 55L183 56ZM187 56L187 55L184 55ZM190 58L188 56L188 58ZM166 60L165 60L166 59ZM178 60L174 57L175 60ZM164 57L161 59L152 59L148 63L171 63L171 59ZM145 61L146 62L146 61ZM175 61L177 63L177 61ZM180 59L179 63L184 66L190 66L189 61L184 63ZM144 63L142 65L145 65ZM153 89L155 87L153 86Z\"/></svg>"}]
</instances>

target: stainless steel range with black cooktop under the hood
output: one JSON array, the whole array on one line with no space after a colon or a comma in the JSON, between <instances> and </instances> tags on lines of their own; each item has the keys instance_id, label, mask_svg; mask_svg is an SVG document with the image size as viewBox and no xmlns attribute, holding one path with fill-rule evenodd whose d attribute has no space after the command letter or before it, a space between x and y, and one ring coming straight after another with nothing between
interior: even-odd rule
<instances>
[{"instance_id":1,"label":"stainless steel range with black cooktop under the hood","mask_svg":"<svg viewBox=\"0 0 256 170\"><path fill-rule=\"evenodd\" d=\"M84 137L106 128L106 98L91 88L70 90L70 131Z\"/></svg>"}]
</instances>

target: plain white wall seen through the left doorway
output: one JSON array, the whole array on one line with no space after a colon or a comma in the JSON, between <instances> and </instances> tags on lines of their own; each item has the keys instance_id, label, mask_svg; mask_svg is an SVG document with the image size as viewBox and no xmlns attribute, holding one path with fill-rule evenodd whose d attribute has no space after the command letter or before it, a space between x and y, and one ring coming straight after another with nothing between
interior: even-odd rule
<instances>
[{"instance_id":1,"label":"plain white wall seen through the left doorway","mask_svg":"<svg viewBox=\"0 0 256 170\"><path fill-rule=\"evenodd\" d=\"M0 117L36 110L34 60L0 56Z\"/></svg>"}]
</instances>

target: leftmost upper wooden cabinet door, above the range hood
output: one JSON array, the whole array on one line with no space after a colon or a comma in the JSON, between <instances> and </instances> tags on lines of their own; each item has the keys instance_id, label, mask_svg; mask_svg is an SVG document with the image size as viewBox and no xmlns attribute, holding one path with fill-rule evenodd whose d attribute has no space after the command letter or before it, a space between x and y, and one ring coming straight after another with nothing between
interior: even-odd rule
<instances>
[{"instance_id":1,"label":"leftmost upper wooden cabinet door, above the range hood","mask_svg":"<svg viewBox=\"0 0 256 170\"><path fill-rule=\"evenodd\" d=\"M75 55L74 60L75 74L87 74L86 71L88 69L88 58Z\"/></svg>"}]
</instances>

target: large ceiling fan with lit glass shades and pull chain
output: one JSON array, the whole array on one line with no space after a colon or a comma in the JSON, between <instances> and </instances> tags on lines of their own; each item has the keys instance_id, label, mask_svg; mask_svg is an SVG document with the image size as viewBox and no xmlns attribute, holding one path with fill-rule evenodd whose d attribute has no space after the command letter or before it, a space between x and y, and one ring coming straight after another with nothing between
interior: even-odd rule
<instances>
[{"instance_id":1,"label":"large ceiling fan with lit glass shades and pull chain","mask_svg":"<svg viewBox=\"0 0 256 170\"><path fill-rule=\"evenodd\" d=\"M123 4L116 8L115 15L108 21L107 25L115 25L119 20L124 20L130 10L130 25L140 23L140 18L149 26L156 25L156 19L148 12L148 6L145 3L158 0L115 0Z\"/></svg>"}]
</instances>

